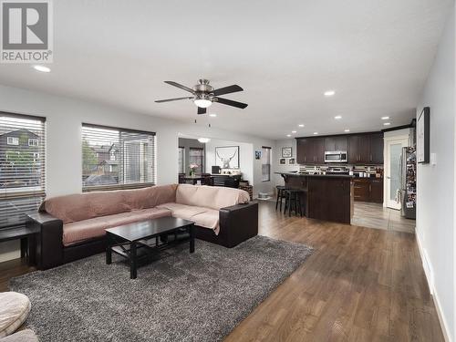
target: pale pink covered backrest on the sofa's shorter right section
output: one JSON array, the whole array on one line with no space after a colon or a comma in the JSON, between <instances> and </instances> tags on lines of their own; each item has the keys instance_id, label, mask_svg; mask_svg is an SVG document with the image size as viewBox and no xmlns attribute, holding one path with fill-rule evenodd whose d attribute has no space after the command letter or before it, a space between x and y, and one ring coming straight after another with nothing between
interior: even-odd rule
<instances>
[{"instance_id":1,"label":"pale pink covered backrest on the sofa's shorter right section","mask_svg":"<svg viewBox=\"0 0 456 342\"><path fill-rule=\"evenodd\" d=\"M176 191L177 203L215 210L249 201L248 192L220 186L179 184Z\"/></svg>"}]
</instances>

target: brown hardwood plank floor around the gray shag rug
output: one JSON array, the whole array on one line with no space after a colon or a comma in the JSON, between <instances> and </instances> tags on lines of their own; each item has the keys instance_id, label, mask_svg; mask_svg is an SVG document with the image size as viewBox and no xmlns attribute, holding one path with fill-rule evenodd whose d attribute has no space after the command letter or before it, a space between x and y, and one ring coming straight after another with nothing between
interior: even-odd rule
<instances>
[{"instance_id":1,"label":"brown hardwood plank floor around the gray shag rug","mask_svg":"<svg viewBox=\"0 0 456 342\"><path fill-rule=\"evenodd\" d=\"M260 234L316 250L226 338L232 341L443 341L415 235L324 223L260 203ZM0 264L0 291L30 272Z\"/></svg>"}]
</instances>

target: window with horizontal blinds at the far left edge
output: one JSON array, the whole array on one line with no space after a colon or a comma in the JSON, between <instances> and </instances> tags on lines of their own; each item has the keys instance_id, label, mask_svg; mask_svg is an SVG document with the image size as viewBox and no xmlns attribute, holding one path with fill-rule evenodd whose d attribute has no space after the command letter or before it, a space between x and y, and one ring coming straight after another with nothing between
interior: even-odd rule
<instances>
[{"instance_id":1,"label":"window with horizontal blinds at the far left edge","mask_svg":"<svg viewBox=\"0 0 456 342\"><path fill-rule=\"evenodd\" d=\"M24 225L45 197L45 125L45 118L0 112L0 228Z\"/></svg>"}]
</instances>

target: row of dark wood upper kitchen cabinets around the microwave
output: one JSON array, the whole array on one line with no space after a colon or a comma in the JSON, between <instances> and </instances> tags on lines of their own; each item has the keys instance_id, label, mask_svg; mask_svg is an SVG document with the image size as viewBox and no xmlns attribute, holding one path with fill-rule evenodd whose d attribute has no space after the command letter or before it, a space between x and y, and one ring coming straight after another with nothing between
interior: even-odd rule
<instances>
[{"instance_id":1,"label":"row of dark wood upper kitchen cabinets around the microwave","mask_svg":"<svg viewBox=\"0 0 456 342\"><path fill-rule=\"evenodd\" d=\"M383 133L296 138L299 164L324 164L325 151L347 150L348 164L383 164Z\"/></svg>"}]
</instances>

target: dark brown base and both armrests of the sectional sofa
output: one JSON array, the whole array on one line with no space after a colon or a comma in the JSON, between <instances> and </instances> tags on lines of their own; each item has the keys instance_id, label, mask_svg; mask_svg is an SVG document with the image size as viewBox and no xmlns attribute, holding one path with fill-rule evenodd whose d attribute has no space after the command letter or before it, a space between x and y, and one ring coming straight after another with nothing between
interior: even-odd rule
<instances>
[{"instance_id":1,"label":"dark brown base and both armrests of the sectional sofa","mask_svg":"<svg viewBox=\"0 0 456 342\"><path fill-rule=\"evenodd\" d=\"M257 202L222 208L219 214L220 233L215 235L211 229L195 226L198 239L231 248L258 234ZM41 232L36 239L36 267L41 270L67 264L106 250L104 237L65 247L62 244L62 221L47 212L29 215L27 224L37 225Z\"/></svg>"}]
</instances>

